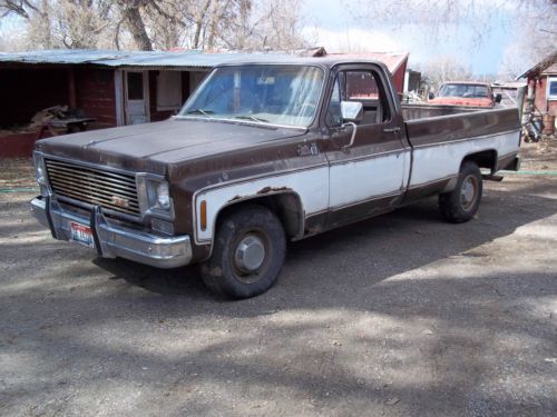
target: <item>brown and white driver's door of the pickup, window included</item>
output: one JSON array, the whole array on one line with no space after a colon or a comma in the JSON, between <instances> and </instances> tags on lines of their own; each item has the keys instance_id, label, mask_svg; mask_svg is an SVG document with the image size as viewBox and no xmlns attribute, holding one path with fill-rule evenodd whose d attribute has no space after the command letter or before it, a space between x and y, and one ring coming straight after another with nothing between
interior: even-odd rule
<instances>
[{"instance_id":1,"label":"brown and white driver's door of the pickup, window included","mask_svg":"<svg viewBox=\"0 0 557 417\"><path fill-rule=\"evenodd\" d=\"M410 149L401 140L402 120L388 86L373 64L341 66L335 72L324 120L330 226L389 211L403 197ZM345 101L362 103L360 120L343 120Z\"/></svg>"}]
</instances>

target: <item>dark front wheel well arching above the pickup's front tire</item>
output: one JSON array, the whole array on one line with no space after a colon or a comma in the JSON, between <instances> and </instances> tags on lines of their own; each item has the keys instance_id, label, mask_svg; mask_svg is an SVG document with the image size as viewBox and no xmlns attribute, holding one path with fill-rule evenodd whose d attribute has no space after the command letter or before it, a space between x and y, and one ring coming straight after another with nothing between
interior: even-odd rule
<instances>
[{"instance_id":1,"label":"dark front wheel well arching above the pickup's front tire","mask_svg":"<svg viewBox=\"0 0 557 417\"><path fill-rule=\"evenodd\" d=\"M303 236L304 211L300 196L295 192L280 192L267 196L256 196L224 207L217 215L216 226L228 214L241 210L242 207L258 205L273 211L281 220L284 232L289 238Z\"/></svg>"}]
</instances>

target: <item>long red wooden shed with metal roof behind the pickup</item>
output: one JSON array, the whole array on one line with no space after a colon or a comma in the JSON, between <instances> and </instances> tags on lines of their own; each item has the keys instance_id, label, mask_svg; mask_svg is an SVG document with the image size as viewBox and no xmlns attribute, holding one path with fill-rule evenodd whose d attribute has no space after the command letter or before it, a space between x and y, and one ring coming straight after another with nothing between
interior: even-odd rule
<instances>
[{"instance_id":1,"label":"long red wooden shed with metal roof behind the pickup","mask_svg":"<svg viewBox=\"0 0 557 417\"><path fill-rule=\"evenodd\" d=\"M323 57L323 48L295 52ZM339 54L336 54L339 56ZM408 53L345 54L383 61L402 92ZM216 64L284 60L292 53L50 50L0 53L0 158L29 156L38 111L66 106L88 129L164 120ZM92 119L92 120L91 120Z\"/></svg>"}]
</instances>

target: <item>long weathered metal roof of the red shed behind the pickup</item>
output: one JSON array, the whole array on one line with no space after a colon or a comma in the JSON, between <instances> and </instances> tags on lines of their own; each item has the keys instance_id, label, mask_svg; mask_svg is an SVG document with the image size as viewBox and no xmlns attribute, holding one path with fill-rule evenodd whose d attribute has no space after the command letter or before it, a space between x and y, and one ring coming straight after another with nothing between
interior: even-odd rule
<instances>
[{"instance_id":1,"label":"long weathered metal roof of the red shed behind the pickup","mask_svg":"<svg viewBox=\"0 0 557 417\"><path fill-rule=\"evenodd\" d=\"M0 63L51 63L51 64L96 64L101 67L137 67L137 68L199 68L208 69L221 63L254 61L287 61L307 51L285 52L202 52L190 51L114 51L56 49L45 51L26 51L0 53ZM324 54L325 58L378 60L394 71L408 58L408 53L359 53ZM315 58L319 60L319 58Z\"/></svg>"}]
</instances>

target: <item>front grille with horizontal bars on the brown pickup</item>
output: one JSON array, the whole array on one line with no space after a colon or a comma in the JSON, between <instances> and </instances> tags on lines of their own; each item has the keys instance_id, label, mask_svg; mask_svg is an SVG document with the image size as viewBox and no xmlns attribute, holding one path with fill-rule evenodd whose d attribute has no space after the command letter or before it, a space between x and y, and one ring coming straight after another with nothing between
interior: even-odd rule
<instances>
[{"instance_id":1,"label":"front grille with horizontal bars on the brown pickup","mask_svg":"<svg viewBox=\"0 0 557 417\"><path fill-rule=\"evenodd\" d=\"M57 198L79 206L100 206L115 214L140 217L133 175L84 167L55 159L45 160L48 180Z\"/></svg>"}]
</instances>

